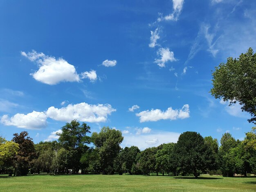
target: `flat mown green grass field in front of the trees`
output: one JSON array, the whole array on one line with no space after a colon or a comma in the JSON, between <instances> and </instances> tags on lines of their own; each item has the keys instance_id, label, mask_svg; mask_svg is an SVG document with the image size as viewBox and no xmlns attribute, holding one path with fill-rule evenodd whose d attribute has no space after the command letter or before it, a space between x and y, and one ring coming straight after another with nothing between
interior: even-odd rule
<instances>
[{"instance_id":1,"label":"flat mown green grass field in front of the trees","mask_svg":"<svg viewBox=\"0 0 256 192\"><path fill-rule=\"evenodd\" d=\"M256 191L256 177L137 175L0 175L0 191Z\"/></svg>"}]
</instances>

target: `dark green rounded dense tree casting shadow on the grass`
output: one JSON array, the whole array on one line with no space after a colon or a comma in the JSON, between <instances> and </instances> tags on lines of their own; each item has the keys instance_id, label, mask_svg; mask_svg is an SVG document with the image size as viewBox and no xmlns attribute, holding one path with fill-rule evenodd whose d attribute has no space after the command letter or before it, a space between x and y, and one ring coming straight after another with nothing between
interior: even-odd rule
<instances>
[{"instance_id":1,"label":"dark green rounded dense tree casting shadow on the grass","mask_svg":"<svg viewBox=\"0 0 256 192\"><path fill-rule=\"evenodd\" d=\"M182 171L198 178L198 172L206 168L210 150L199 133L184 132L179 136L175 152Z\"/></svg>"}]
</instances>

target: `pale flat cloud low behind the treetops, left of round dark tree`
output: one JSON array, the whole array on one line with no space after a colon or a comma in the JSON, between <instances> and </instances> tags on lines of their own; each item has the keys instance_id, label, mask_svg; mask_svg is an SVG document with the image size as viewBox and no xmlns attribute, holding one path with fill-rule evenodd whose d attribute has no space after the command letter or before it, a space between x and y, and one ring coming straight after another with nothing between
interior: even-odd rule
<instances>
[{"instance_id":1,"label":"pale flat cloud low behind the treetops, left of round dark tree","mask_svg":"<svg viewBox=\"0 0 256 192\"><path fill-rule=\"evenodd\" d=\"M124 135L124 141L121 143L121 147L130 147L132 145L139 147L140 150L144 150L148 147L157 147L162 143L176 143L180 133L175 132L157 132L153 134L126 134Z\"/></svg>"}]
</instances>

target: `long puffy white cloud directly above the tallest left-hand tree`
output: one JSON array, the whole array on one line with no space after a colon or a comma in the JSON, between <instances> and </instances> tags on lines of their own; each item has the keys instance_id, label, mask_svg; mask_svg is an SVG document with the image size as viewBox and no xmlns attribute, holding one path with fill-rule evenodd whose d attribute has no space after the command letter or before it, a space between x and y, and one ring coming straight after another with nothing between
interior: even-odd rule
<instances>
[{"instance_id":1,"label":"long puffy white cloud directly above the tallest left-hand tree","mask_svg":"<svg viewBox=\"0 0 256 192\"><path fill-rule=\"evenodd\" d=\"M76 119L77 121L84 121L90 123L105 122L108 115L115 112L109 104L97 104L89 105L87 103L78 103L75 105L67 105L67 107L62 107L60 109L55 107L49 107L46 114L49 118L57 121L72 121Z\"/></svg>"}]
</instances>

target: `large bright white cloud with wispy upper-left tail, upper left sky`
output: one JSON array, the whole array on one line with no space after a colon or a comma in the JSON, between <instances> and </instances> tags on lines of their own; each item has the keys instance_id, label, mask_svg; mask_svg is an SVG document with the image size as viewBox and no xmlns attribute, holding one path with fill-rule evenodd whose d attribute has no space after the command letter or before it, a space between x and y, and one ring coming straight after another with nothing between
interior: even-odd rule
<instances>
[{"instance_id":1,"label":"large bright white cloud with wispy upper-left tail, upper left sky","mask_svg":"<svg viewBox=\"0 0 256 192\"><path fill-rule=\"evenodd\" d=\"M30 74L34 79L48 85L56 85L63 81L79 81L79 75L73 65L67 63L63 58L46 56L43 53L37 53L35 50L26 54L21 52L22 56L38 63L38 71Z\"/></svg>"}]
</instances>

